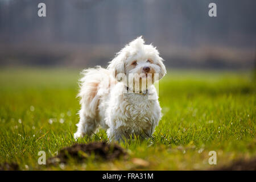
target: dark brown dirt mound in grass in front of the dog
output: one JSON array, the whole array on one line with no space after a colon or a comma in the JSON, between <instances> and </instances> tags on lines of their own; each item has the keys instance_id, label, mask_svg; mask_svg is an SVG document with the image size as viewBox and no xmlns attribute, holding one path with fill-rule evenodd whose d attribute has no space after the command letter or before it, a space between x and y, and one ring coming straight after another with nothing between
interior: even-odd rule
<instances>
[{"instance_id":1,"label":"dark brown dirt mound in grass in front of the dog","mask_svg":"<svg viewBox=\"0 0 256 182\"><path fill-rule=\"evenodd\" d=\"M60 150L59 154L47 160L47 164L67 163L68 159L76 159L77 162L84 162L90 155L95 159L113 160L127 153L118 144L106 142L92 142L88 144L74 144L71 147L65 147Z\"/></svg>"}]
</instances>

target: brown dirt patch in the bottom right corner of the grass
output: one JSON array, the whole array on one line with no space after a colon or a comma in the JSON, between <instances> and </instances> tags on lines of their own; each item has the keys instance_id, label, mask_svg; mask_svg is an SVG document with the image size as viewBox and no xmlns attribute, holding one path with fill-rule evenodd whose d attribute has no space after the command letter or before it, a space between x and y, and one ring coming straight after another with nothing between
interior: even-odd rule
<instances>
[{"instance_id":1,"label":"brown dirt patch in the bottom right corner of the grass","mask_svg":"<svg viewBox=\"0 0 256 182\"><path fill-rule=\"evenodd\" d=\"M252 160L238 160L228 166L216 168L220 171L256 171L256 158Z\"/></svg>"}]
</instances>

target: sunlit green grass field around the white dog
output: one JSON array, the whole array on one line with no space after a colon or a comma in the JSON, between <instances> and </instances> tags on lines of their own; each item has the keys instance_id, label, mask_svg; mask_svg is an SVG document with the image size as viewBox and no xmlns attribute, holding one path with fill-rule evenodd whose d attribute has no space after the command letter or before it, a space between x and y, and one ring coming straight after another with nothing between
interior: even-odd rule
<instances>
[{"instance_id":1,"label":"sunlit green grass field around the white dog","mask_svg":"<svg viewBox=\"0 0 256 182\"><path fill-rule=\"evenodd\" d=\"M159 84L163 118L153 138L120 143L127 159L44 166L76 141L78 69L0 69L0 164L20 169L173 170L212 169L256 157L255 73L168 71ZM104 130L79 143L108 140ZM217 165L208 163L217 152ZM142 162L139 159L143 159Z\"/></svg>"}]
</instances>

